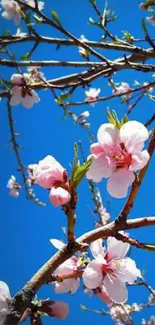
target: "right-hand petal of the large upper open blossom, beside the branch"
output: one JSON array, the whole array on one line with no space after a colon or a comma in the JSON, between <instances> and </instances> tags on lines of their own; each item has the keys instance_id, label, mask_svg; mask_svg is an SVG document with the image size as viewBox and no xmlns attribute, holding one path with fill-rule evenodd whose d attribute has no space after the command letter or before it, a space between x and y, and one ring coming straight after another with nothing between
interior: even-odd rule
<instances>
[{"instance_id":1,"label":"right-hand petal of the large upper open blossom, beside the branch","mask_svg":"<svg viewBox=\"0 0 155 325\"><path fill-rule=\"evenodd\" d=\"M137 152L136 154L132 155L132 163L129 167L129 170L141 170L146 166L150 159L150 155L147 150L143 150L142 152Z\"/></svg>"}]
</instances>

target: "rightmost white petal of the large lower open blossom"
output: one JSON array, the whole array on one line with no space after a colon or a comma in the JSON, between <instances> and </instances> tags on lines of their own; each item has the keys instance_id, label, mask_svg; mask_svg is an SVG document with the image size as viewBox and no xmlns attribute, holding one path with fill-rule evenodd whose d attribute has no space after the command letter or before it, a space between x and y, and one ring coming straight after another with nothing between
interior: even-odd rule
<instances>
[{"instance_id":1,"label":"rightmost white petal of the large lower open blossom","mask_svg":"<svg viewBox=\"0 0 155 325\"><path fill-rule=\"evenodd\" d=\"M141 272L136 267L136 263L131 258L124 258L120 261L120 267L122 269L121 280L133 284L137 277L141 278Z\"/></svg>"}]
</instances>

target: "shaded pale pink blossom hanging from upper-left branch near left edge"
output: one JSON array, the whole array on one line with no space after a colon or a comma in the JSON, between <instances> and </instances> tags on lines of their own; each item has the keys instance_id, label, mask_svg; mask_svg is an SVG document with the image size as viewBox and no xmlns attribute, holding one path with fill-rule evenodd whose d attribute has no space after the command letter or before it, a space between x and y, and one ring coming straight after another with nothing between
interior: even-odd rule
<instances>
[{"instance_id":1,"label":"shaded pale pink blossom hanging from upper-left branch near left edge","mask_svg":"<svg viewBox=\"0 0 155 325\"><path fill-rule=\"evenodd\" d=\"M29 74L13 74L11 81L13 84L15 84L15 86L13 86L10 90L11 106L16 106L21 103L25 108L31 108L35 103L40 101L37 93L33 89L30 89L27 85L27 81L29 81Z\"/></svg>"}]
</instances>

